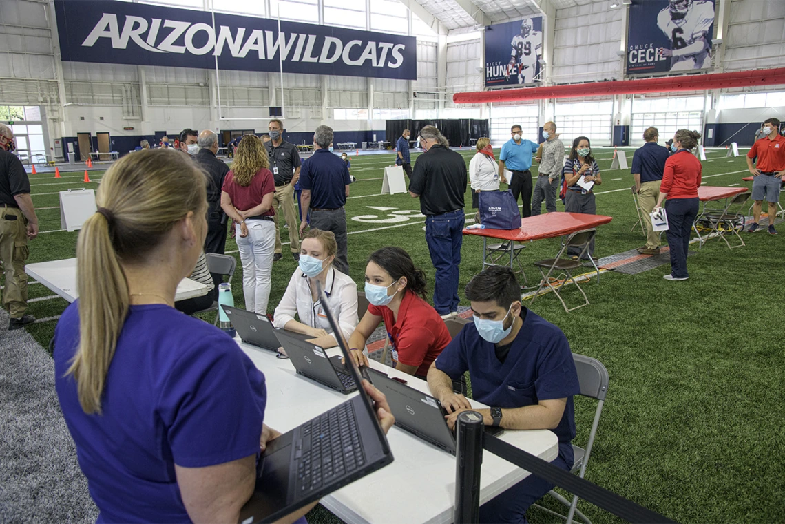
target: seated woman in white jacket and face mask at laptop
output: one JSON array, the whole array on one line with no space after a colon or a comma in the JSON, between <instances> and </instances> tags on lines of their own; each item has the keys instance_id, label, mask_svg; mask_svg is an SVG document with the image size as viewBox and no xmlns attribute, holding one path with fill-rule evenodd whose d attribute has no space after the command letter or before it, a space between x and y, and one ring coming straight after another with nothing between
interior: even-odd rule
<instances>
[{"instance_id":1,"label":"seated woman in white jacket and face mask at laptop","mask_svg":"<svg viewBox=\"0 0 785 524\"><path fill-rule=\"evenodd\" d=\"M357 326L357 285L349 275L333 267L338 244L332 231L312 229L305 233L300 243L299 267L289 280L286 293L273 315L273 325L316 338L322 348L337 345L324 314L321 300L316 293L319 281L327 293L330 311L338 318L338 326L349 340ZM294 319L297 314L300 321Z\"/></svg>"}]
</instances>

